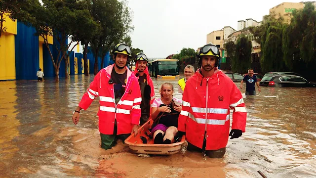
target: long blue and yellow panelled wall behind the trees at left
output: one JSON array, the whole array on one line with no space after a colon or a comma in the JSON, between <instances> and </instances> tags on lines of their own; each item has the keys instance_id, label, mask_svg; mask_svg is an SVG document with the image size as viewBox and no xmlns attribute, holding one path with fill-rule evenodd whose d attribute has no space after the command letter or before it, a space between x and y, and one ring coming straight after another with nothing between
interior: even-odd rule
<instances>
[{"instance_id":1,"label":"long blue and yellow panelled wall behind the trees at left","mask_svg":"<svg viewBox=\"0 0 316 178\"><path fill-rule=\"evenodd\" d=\"M55 69L51 56L42 37L34 36L35 29L21 22L11 21L6 17L3 23L6 32L0 37L0 81L2 80L35 80L39 68L44 72L44 77L55 77ZM54 45L59 47L53 37L48 38L49 48L54 58L58 51ZM79 51L79 46L77 46ZM90 50L89 50L90 51ZM61 62L59 77L65 77L65 68L69 75L83 74L84 63L82 53L69 52L69 64L65 66L65 60ZM91 52L88 53L88 72L93 73L95 58ZM110 65L109 52L105 56L101 67L101 58L98 57L98 69Z\"/></svg>"}]
</instances>

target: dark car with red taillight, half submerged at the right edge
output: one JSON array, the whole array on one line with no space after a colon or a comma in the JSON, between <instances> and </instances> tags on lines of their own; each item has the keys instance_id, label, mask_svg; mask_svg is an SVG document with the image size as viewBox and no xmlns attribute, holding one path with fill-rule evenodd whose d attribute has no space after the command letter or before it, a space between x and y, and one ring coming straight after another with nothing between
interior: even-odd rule
<instances>
[{"instance_id":1,"label":"dark car with red taillight, half submerged at the right edge","mask_svg":"<svg viewBox=\"0 0 316 178\"><path fill-rule=\"evenodd\" d=\"M260 86L266 87L316 87L315 83L311 83L303 77L296 75L275 75L269 81L261 80Z\"/></svg>"}]
</instances>

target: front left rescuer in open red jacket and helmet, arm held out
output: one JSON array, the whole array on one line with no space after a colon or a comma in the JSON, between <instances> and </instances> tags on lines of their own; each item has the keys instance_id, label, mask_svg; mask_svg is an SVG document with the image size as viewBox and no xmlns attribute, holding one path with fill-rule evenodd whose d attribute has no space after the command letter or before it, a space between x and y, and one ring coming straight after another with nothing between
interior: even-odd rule
<instances>
[{"instance_id":1,"label":"front left rescuer in open red jacket and helmet, arm held out","mask_svg":"<svg viewBox=\"0 0 316 178\"><path fill-rule=\"evenodd\" d=\"M80 110L88 109L99 96L99 131L104 149L115 146L117 139L124 142L130 134L138 132L142 97L137 78L126 67L131 53L128 45L115 46L115 64L98 72L73 115L73 122L77 125Z\"/></svg>"}]
</instances>

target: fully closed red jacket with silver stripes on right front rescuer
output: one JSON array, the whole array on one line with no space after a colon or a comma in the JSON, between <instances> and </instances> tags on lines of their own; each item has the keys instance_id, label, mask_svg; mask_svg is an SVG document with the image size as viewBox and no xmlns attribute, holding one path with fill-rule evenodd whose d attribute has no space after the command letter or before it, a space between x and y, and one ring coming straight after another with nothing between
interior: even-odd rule
<instances>
[{"instance_id":1,"label":"fully closed red jacket with silver stripes on right front rescuer","mask_svg":"<svg viewBox=\"0 0 316 178\"><path fill-rule=\"evenodd\" d=\"M178 130L186 132L188 142L193 145L202 148L205 137L206 150L226 147L230 108L234 109L232 129L245 132L247 111L241 92L222 71L205 78L198 70L187 81L182 100Z\"/></svg>"}]
</instances>

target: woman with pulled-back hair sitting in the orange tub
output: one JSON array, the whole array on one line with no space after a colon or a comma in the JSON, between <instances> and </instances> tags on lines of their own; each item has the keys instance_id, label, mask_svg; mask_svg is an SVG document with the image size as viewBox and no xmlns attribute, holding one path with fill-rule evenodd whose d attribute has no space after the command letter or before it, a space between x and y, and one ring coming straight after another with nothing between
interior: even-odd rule
<instances>
[{"instance_id":1,"label":"woman with pulled-back hair sitting in the orange tub","mask_svg":"<svg viewBox=\"0 0 316 178\"><path fill-rule=\"evenodd\" d=\"M151 133L154 143L169 144L178 132L178 117L182 110L181 99L173 97L173 85L164 83L159 90L160 98L152 104L152 119L154 124ZM176 104L176 102L178 104Z\"/></svg>"}]
</instances>

